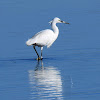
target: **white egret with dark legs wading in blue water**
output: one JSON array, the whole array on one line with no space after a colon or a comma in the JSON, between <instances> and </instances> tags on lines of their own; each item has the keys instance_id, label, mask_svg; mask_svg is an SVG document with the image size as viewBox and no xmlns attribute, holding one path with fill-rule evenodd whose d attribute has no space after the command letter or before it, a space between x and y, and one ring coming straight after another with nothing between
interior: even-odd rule
<instances>
[{"instance_id":1,"label":"white egret with dark legs wading in blue water","mask_svg":"<svg viewBox=\"0 0 100 100\"><path fill-rule=\"evenodd\" d=\"M38 32L35 34L32 38L30 38L28 41L26 41L26 44L28 46L33 45L33 48L38 56L37 60L42 60L42 50L43 46L47 46L49 48L53 42L57 39L59 34L59 29L56 26L56 23L65 23L69 24L65 21L60 20L59 18L55 17L52 21L49 22L52 26L52 30L46 29ZM41 57L39 56L35 46L41 47Z\"/></svg>"}]
</instances>

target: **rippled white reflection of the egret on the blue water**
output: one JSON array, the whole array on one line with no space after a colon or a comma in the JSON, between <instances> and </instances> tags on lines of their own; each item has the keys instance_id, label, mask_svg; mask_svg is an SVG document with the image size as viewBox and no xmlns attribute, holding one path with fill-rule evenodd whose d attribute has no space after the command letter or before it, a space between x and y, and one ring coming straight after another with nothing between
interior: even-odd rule
<instances>
[{"instance_id":1,"label":"rippled white reflection of the egret on the blue water","mask_svg":"<svg viewBox=\"0 0 100 100\"><path fill-rule=\"evenodd\" d=\"M38 61L35 70L29 70L31 99L33 100L63 100L62 80L60 72L53 66L44 67Z\"/></svg>"}]
</instances>

